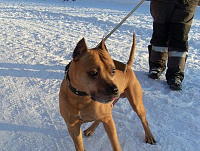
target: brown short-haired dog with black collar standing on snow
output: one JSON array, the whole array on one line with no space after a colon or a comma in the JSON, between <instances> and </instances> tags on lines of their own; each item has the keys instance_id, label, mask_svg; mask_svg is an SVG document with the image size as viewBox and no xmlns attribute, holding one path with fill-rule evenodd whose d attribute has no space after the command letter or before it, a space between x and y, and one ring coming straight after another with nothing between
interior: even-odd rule
<instances>
[{"instance_id":1,"label":"brown short-haired dog with black collar standing on snow","mask_svg":"<svg viewBox=\"0 0 200 151\"><path fill-rule=\"evenodd\" d=\"M59 93L60 112L77 151L84 151L81 124L91 121L94 123L84 131L85 136L94 133L103 122L113 150L121 150L112 118L113 104L120 96L128 98L139 116L146 143L155 144L146 120L142 88L131 69L134 51L135 34L127 69L123 72L118 70L119 62L114 63L103 40L94 49L87 49L84 38L78 42Z\"/></svg>"}]
</instances>

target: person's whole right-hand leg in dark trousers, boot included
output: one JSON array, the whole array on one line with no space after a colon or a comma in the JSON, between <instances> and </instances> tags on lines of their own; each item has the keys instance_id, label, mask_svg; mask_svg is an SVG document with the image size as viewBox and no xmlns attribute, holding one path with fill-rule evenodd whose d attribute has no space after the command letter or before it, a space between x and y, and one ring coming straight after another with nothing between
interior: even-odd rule
<instances>
[{"instance_id":1,"label":"person's whole right-hand leg in dark trousers, boot included","mask_svg":"<svg viewBox=\"0 0 200 151\"><path fill-rule=\"evenodd\" d=\"M172 90L181 90L188 51L188 33L196 5L180 3L169 25L168 64L166 79Z\"/></svg>"}]
</instances>

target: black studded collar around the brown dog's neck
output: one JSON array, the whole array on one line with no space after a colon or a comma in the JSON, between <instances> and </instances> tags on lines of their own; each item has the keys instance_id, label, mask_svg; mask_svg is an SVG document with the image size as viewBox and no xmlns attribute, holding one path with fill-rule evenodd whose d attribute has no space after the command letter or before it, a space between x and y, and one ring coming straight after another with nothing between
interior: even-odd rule
<instances>
[{"instance_id":1,"label":"black studded collar around the brown dog's neck","mask_svg":"<svg viewBox=\"0 0 200 151\"><path fill-rule=\"evenodd\" d=\"M70 79L69 79L69 67L70 67L70 64L71 62L65 67L65 79L67 80L67 85L69 87L69 89L76 95L78 96L87 96L88 94L86 92L83 92L83 91L79 91L77 90L76 88L74 88L70 82Z\"/></svg>"}]
</instances>

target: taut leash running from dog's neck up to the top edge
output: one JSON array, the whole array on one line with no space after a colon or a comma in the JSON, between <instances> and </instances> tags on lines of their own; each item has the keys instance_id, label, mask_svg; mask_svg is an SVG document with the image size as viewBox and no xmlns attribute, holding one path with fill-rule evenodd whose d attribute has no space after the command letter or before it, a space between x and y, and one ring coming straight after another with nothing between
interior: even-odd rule
<instances>
[{"instance_id":1,"label":"taut leash running from dog's neck up to the top edge","mask_svg":"<svg viewBox=\"0 0 200 151\"><path fill-rule=\"evenodd\" d=\"M145 0L141 0L141 2L138 3L137 6L135 6L135 8L133 8L133 10L126 17L124 17L124 19L112 31L110 31L110 33L104 38L104 41L106 41L106 39L108 39L127 20L127 18L130 17L136 11L136 9L140 7L140 5L142 5L144 1ZM99 45L100 43L97 45L97 47Z\"/></svg>"}]
</instances>

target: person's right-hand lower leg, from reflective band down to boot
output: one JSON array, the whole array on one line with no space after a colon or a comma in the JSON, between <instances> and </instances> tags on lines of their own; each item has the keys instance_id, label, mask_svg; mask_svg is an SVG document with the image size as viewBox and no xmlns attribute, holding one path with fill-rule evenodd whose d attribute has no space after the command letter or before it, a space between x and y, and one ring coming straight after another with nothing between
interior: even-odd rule
<instances>
[{"instance_id":1,"label":"person's right-hand lower leg, from reflective band down to boot","mask_svg":"<svg viewBox=\"0 0 200 151\"><path fill-rule=\"evenodd\" d=\"M187 52L170 51L167 64L166 79L171 90L182 90L184 69L187 59Z\"/></svg>"}]
</instances>

